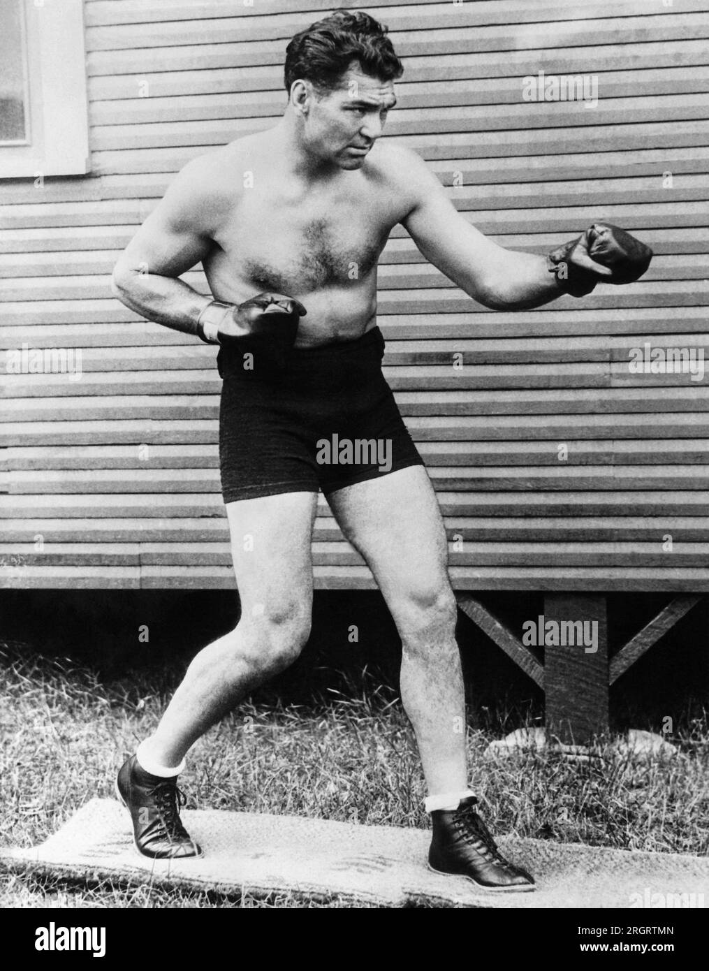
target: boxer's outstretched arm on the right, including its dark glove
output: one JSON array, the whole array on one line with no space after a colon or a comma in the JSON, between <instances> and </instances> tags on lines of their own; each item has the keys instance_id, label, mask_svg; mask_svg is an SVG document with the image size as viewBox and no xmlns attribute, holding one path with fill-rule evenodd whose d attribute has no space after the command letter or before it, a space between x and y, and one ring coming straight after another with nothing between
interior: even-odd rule
<instances>
[{"instance_id":1,"label":"boxer's outstretched arm on the right, including its dark glove","mask_svg":"<svg viewBox=\"0 0 709 971\"><path fill-rule=\"evenodd\" d=\"M398 184L409 207L402 224L426 259L492 310L540 307L561 293L585 296L599 281L632 283L650 265L648 247L625 230L601 223L546 257L505 250L456 212L415 152L395 151L400 153Z\"/></svg>"}]
</instances>

